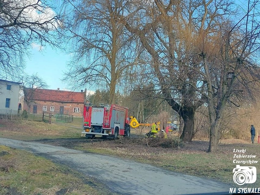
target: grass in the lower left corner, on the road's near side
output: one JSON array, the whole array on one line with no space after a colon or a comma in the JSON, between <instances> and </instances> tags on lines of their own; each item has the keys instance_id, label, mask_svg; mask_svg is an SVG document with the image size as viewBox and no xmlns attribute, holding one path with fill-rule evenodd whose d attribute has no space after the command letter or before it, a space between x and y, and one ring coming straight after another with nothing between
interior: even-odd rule
<instances>
[{"instance_id":1,"label":"grass in the lower left corner, on the road's near side","mask_svg":"<svg viewBox=\"0 0 260 195\"><path fill-rule=\"evenodd\" d=\"M3 155L3 151L8 153ZM67 167L23 150L0 146L0 194L9 194L10 190L22 195L51 195L60 190L70 195L112 194Z\"/></svg>"}]
</instances>

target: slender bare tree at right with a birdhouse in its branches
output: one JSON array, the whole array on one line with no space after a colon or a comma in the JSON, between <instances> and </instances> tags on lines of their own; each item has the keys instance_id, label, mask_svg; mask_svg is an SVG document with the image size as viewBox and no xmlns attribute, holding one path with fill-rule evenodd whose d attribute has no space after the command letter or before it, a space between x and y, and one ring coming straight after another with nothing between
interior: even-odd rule
<instances>
[{"instance_id":1,"label":"slender bare tree at right with a birdhouse in its branches","mask_svg":"<svg viewBox=\"0 0 260 195\"><path fill-rule=\"evenodd\" d=\"M226 105L237 105L234 100L245 95L253 99L251 90L256 90L255 86L259 85L259 64L254 61L260 49L260 21L255 20L259 16L258 9L258 1L248 1L246 14L236 24L227 23L219 28L216 56L201 52L208 85L204 95L208 97L211 123L210 152L217 151Z\"/></svg>"}]
</instances>

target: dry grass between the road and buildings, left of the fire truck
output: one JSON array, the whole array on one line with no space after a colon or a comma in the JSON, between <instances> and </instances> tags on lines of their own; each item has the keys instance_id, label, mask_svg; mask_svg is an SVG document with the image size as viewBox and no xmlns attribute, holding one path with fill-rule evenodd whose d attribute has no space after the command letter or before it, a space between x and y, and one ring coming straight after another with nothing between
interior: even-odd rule
<instances>
[{"instance_id":1,"label":"dry grass between the road and buildings, left of the fire truck","mask_svg":"<svg viewBox=\"0 0 260 195\"><path fill-rule=\"evenodd\" d=\"M79 138L81 130L58 124L26 120L0 120L0 136L19 140Z\"/></svg>"}]
</instances>

